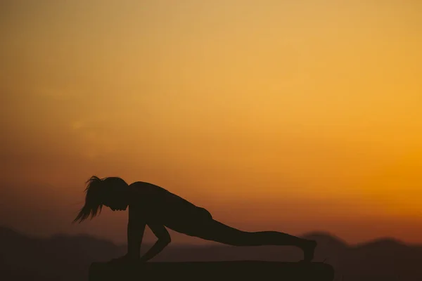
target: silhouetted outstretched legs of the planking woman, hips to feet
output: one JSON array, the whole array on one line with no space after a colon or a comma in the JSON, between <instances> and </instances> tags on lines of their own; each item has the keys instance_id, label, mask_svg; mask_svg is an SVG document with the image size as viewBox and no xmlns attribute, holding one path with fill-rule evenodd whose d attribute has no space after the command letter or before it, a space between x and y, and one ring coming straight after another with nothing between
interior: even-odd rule
<instances>
[{"instance_id":1,"label":"silhouetted outstretched legs of the planking woman, hips to feet","mask_svg":"<svg viewBox=\"0 0 422 281\"><path fill-rule=\"evenodd\" d=\"M226 226L214 219L204 220L197 224L194 233L196 237L232 246L276 245L299 247L304 252L305 261L311 261L314 258L314 248L316 247L316 242L313 240L306 240L277 231L246 232Z\"/></svg>"}]
</instances>

